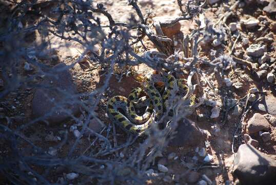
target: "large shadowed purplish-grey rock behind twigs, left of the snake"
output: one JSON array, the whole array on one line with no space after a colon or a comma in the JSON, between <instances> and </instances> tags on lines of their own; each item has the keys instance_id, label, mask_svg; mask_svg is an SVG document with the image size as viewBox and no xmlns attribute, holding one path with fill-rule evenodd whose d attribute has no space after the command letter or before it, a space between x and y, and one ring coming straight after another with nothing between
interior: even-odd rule
<instances>
[{"instance_id":1,"label":"large shadowed purplish-grey rock behind twigs, left of the snake","mask_svg":"<svg viewBox=\"0 0 276 185\"><path fill-rule=\"evenodd\" d=\"M53 70L62 69L56 71L56 78L45 77L41 85L47 88L37 88L34 92L32 100L33 117L45 116L50 124L60 123L80 111L76 104L78 100L75 97L77 94L76 85L73 83L68 69L63 70L66 66L64 63L55 65ZM57 105L61 107L57 107Z\"/></svg>"}]
</instances>

